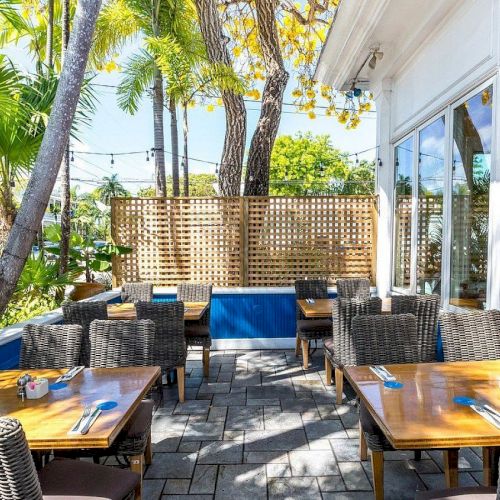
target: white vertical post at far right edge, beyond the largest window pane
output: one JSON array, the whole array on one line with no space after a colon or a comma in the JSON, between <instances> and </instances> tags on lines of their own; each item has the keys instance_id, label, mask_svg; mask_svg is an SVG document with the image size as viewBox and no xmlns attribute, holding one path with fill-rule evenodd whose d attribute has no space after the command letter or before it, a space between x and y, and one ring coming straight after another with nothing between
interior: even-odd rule
<instances>
[{"instance_id":1,"label":"white vertical post at far right edge, beyond the largest window pane","mask_svg":"<svg viewBox=\"0 0 500 500\"><path fill-rule=\"evenodd\" d=\"M500 74L494 82L493 143L490 185L490 248L488 261L489 309L500 309Z\"/></svg>"}]
</instances>

